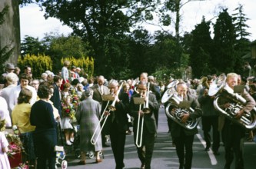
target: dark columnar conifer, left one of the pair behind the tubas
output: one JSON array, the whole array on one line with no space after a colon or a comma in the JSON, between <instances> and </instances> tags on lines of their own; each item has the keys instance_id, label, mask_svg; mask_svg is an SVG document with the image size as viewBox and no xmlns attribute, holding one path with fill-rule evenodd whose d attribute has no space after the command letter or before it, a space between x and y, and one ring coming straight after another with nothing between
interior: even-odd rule
<instances>
[{"instance_id":1,"label":"dark columnar conifer, left one of the pair behind the tubas","mask_svg":"<svg viewBox=\"0 0 256 169\"><path fill-rule=\"evenodd\" d=\"M203 17L201 23L191 31L190 65L196 78L211 73L209 68L212 48L210 24L211 22L205 22Z\"/></svg>"}]
</instances>

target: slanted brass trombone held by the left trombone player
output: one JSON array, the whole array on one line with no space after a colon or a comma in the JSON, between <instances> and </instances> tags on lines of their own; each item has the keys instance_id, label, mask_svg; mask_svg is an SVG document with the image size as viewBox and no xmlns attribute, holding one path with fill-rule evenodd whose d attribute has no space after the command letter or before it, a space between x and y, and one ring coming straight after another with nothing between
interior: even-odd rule
<instances>
[{"instance_id":1,"label":"slanted brass trombone held by the left trombone player","mask_svg":"<svg viewBox=\"0 0 256 169\"><path fill-rule=\"evenodd\" d=\"M123 85L123 83L121 83L121 85L120 85L119 88L118 88L118 91L117 91L117 93L116 93L117 96L118 96L119 92L121 91L121 86L122 86L122 85ZM94 133L92 134L92 136L91 136L91 144L95 145L95 144L97 143L98 137L100 136L101 131L102 131L102 129L104 128L105 123L106 123L106 121L107 121L107 119L108 119L108 116L109 116L109 114L105 114L105 111L107 110L107 108L108 108L108 111L115 111L115 110L116 110L116 108L115 108L115 102L117 101L117 99L118 99L118 97L115 97L115 99L114 99L114 101L112 102L111 105L108 105L108 104L109 104L109 101L111 101L111 100L108 100L108 103L107 103L107 105L106 105L106 107L105 107L105 109L104 109L104 111L103 111L103 113L102 113L102 115L101 115L101 118L100 118L100 120L98 121L98 124L97 124L97 126L96 126L96 128L95 128L95 132L94 132ZM103 120L103 118L105 118L105 119L104 119L103 124L102 124L102 126L101 126L101 121ZM97 130L98 130L98 128L99 128L100 126L101 126L101 130L99 131L99 134L98 134L97 137L95 138L95 134L96 134L96 132L97 132ZM94 140L94 138L95 138L95 140Z\"/></svg>"}]
</instances>

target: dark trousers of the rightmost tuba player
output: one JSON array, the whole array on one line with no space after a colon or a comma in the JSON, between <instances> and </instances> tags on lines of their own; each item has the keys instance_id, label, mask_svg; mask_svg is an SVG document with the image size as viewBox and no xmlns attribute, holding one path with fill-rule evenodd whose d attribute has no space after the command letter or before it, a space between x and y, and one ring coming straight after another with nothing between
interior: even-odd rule
<instances>
[{"instance_id":1,"label":"dark trousers of the rightmost tuba player","mask_svg":"<svg viewBox=\"0 0 256 169\"><path fill-rule=\"evenodd\" d=\"M225 141L226 164L224 168L229 169L235 157L235 168L244 169L244 128L226 119L222 132Z\"/></svg>"}]
</instances>

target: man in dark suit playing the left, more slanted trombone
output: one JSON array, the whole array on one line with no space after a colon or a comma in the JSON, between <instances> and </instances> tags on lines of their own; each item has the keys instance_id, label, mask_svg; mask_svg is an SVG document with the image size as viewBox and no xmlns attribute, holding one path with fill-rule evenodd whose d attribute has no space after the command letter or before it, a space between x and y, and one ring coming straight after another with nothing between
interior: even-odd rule
<instances>
[{"instance_id":1,"label":"man in dark suit playing the left, more slanted trombone","mask_svg":"<svg viewBox=\"0 0 256 169\"><path fill-rule=\"evenodd\" d=\"M126 131L128 130L128 104L129 97L125 92L120 92L121 86L118 85L118 81L111 80L108 88L115 97L114 101L110 101L108 105L114 106L114 110L111 111L107 108L107 111L103 112L108 114L108 120L110 120L110 139L111 147L115 157L115 169L121 169L125 167L124 153L125 153L125 139ZM108 101L104 101L102 107L107 106ZM102 110L103 111L103 110Z\"/></svg>"}]
</instances>

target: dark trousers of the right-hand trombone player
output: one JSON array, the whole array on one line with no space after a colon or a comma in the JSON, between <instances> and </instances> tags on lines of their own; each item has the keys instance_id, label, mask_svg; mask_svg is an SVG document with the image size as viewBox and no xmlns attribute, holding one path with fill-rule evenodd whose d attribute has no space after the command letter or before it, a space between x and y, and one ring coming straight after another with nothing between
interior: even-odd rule
<instances>
[{"instance_id":1,"label":"dark trousers of the right-hand trombone player","mask_svg":"<svg viewBox=\"0 0 256 169\"><path fill-rule=\"evenodd\" d=\"M135 141L136 141L136 134L137 134L137 131L134 134ZM151 168L151 158L154 150L155 135L156 135L155 133L148 132L148 129L144 127L143 134L142 134L141 147L136 146L138 158L140 159L141 164L145 165L145 168L147 169Z\"/></svg>"}]
</instances>

